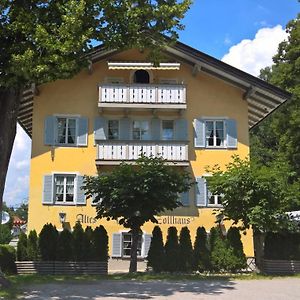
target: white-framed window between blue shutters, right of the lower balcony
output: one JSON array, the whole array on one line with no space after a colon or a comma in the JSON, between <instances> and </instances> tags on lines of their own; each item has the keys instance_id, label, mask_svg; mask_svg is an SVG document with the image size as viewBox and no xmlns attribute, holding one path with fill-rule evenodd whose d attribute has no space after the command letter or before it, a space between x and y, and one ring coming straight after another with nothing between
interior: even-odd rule
<instances>
[{"instance_id":1,"label":"white-framed window between blue shutters, right of the lower balcony","mask_svg":"<svg viewBox=\"0 0 300 300\"><path fill-rule=\"evenodd\" d=\"M224 147L224 121L206 121L206 147Z\"/></svg>"}]
</instances>

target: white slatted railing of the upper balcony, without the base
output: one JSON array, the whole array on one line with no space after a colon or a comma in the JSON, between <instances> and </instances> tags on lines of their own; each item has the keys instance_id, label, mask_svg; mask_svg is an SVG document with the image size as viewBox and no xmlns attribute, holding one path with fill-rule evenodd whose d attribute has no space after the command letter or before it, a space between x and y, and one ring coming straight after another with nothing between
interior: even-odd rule
<instances>
[{"instance_id":1,"label":"white slatted railing of the upper balcony, without the base","mask_svg":"<svg viewBox=\"0 0 300 300\"><path fill-rule=\"evenodd\" d=\"M184 85L103 84L99 86L99 104L186 104Z\"/></svg>"}]
</instances>

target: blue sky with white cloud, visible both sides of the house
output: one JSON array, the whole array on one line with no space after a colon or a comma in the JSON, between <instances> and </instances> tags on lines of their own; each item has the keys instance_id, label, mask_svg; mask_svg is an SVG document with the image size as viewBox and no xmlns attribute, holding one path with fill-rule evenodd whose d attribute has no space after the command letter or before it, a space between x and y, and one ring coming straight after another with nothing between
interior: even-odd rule
<instances>
[{"instance_id":1,"label":"blue sky with white cloud, visible both sides of the house","mask_svg":"<svg viewBox=\"0 0 300 300\"><path fill-rule=\"evenodd\" d=\"M297 0L194 0L180 41L253 75L272 64L287 22L297 16ZM28 198L30 139L18 127L4 201Z\"/></svg>"}]
</instances>

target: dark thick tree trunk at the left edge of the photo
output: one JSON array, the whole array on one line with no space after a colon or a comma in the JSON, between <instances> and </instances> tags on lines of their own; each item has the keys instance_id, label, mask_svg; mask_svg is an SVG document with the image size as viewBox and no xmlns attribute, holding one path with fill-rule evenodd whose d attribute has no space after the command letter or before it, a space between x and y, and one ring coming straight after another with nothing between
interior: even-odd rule
<instances>
[{"instance_id":1,"label":"dark thick tree trunk at the left edge of the photo","mask_svg":"<svg viewBox=\"0 0 300 300\"><path fill-rule=\"evenodd\" d=\"M17 128L22 88L0 88L0 224L5 179Z\"/></svg>"}]
</instances>

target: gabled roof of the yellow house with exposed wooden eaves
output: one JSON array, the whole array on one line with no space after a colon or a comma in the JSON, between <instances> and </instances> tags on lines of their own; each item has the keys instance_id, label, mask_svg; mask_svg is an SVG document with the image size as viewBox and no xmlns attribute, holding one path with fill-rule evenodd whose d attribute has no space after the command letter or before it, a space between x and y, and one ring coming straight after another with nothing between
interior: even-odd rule
<instances>
[{"instance_id":1,"label":"gabled roof of the yellow house with exposed wooden eaves","mask_svg":"<svg viewBox=\"0 0 300 300\"><path fill-rule=\"evenodd\" d=\"M89 60L95 63L118 52L105 49L103 45L97 46L89 53ZM165 52L177 61L190 65L195 75L203 72L241 89L244 100L248 102L250 129L291 98L290 93L183 43L167 46ZM35 88L24 92L18 116L19 124L30 137L34 94Z\"/></svg>"}]
</instances>

